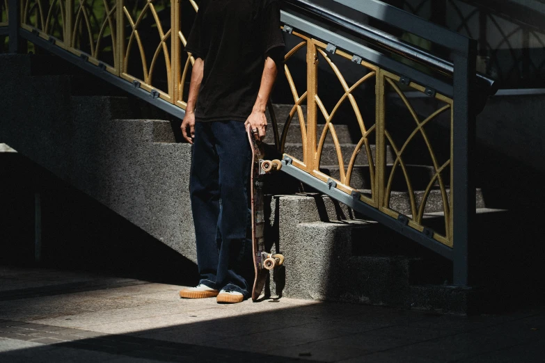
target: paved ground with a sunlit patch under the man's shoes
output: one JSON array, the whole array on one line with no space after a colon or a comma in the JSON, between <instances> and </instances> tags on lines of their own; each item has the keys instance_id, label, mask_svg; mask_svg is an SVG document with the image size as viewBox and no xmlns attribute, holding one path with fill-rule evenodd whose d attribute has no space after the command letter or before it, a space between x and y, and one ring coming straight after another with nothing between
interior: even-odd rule
<instances>
[{"instance_id":1,"label":"paved ground with a sunlit patch under the man's shoes","mask_svg":"<svg viewBox=\"0 0 545 363\"><path fill-rule=\"evenodd\" d=\"M0 266L0 362L545 362L545 308L440 316Z\"/></svg>"}]
</instances>

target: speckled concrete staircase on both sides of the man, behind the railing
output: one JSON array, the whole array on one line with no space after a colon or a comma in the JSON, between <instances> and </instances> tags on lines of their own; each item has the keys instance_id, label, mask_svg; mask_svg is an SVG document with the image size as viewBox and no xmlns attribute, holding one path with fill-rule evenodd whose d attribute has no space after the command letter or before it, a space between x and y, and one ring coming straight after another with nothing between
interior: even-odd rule
<instances>
[{"instance_id":1,"label":"speckled concrete staircase on both sides of the man, behind the railing","mask_svg":"<svg viewBox=\"0 0 545 363\"><path fill-rule=\"evenodd\" d=\"M49 56L0 55L0 92L6 104L0 143L196 261L188 188L191 146L179 142L180 120L68 65L45 67L58 63ZM277 117L288 109L275 107ZM298 127L299 121L293 120L285 150L294 156L301 152L300 134L294 131ZM354 149L347 126L339 125L338 135L347 150ZM322 164L335 177L338 167L332 166L332 151L333 145L326 144ZM429 166L411 168L422 178L429 175ZM368 179L368 166L358 164L354 183L365 191ZM392 203L406 213L408 197L402 184L396 181ZM306 193L270 195L267 204L269 243L287 257L285 267L267 285L272 294L468 311L471 290L449 286L449 261L355 216L329 197L308 188L299 191ZM440 210L435 197L430 197L426 213ZM479 200L484 207L481 194Z\"/></svg>"}]
</instances>

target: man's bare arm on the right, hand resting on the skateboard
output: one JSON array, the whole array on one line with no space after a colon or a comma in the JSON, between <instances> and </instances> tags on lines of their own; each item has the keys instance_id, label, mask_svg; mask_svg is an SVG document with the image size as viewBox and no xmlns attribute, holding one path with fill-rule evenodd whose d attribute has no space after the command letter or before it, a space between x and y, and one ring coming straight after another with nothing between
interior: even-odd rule
<instances>
[{"instance_id":1,"label":"man's bare arm on the right, hand resting on the skateboard","mask_svg":"<svg viewBox=\"0 0 545 363\"><path fill-rule=\"evenodd\" d=\"M271 91L276 80L276 74L278 69L276 63L271 57L267 57L263 74L261 76L261 86L259 88L258 99L255 100L251 115L246 120L246 132L248 128L257 129L259 133L259 139L262 140L265 137L267 131L267 118L265 117L265 110L267 109L267 102L271 96ZM257 138L257 136L256 136Z\"/></svg>"}]
</instances>

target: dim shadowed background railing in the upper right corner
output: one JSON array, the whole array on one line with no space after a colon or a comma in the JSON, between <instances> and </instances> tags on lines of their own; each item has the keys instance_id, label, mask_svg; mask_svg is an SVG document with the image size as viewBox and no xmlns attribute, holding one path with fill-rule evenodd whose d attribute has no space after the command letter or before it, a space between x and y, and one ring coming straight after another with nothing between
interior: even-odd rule
<instances>
[{"instance_id":1,"label":"dim shadowed background railing in the upper right corner","mask_svg":"<svg viewBox=\"0 0 545 363\"><path fill-rule=\"evenodd\" d=\"M498 87L540 88L543 84L540 70L545 66L544 49L530 48L531 41L544 45L545 6L542 1L539 2L542 11L533 5L538 5L535 0L524 5L497 0L418 0L418 6L413 6L409 0L402 3L402 7L414 15L425 14L438 24L447 24L446 19L450 19L450 29L477 38L481 70L493 74ZM439 11L434 12L436 7ZM519 45L514 46L513 42Z\"/></svg>"}]
</instances>

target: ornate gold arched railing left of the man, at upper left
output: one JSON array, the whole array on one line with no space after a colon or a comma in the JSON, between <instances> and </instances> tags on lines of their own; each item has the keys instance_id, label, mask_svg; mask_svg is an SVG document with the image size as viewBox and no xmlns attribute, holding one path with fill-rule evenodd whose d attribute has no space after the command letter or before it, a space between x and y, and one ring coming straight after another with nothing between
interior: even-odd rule
<instances>
[{"instance_id":1,"label":"ornate gold arched railing left of the man, at upper left","mask_svg":"<svg viewBox=\"0 0 545 363\"><path fill-rule=\"evenodd\" d=\"M190 28L182 29L181 19L197 10L193 0L22 0L20 26L185 108L194 59L182 54Z\"/></svg>"}]
</instances>

